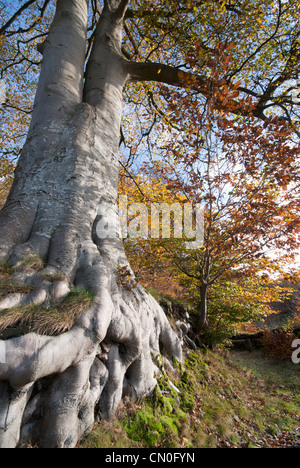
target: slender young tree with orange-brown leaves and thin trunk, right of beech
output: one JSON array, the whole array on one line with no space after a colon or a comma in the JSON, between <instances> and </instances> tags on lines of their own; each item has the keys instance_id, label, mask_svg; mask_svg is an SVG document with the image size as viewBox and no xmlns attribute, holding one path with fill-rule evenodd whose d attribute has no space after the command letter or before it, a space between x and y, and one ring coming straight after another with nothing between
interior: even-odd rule
<instances>
[{"instance_id":1,"label":"slender young tree with orange-brown leaves and thin trunk, right of beech","mask_svg":"<svg viewBox=\"0 0 300 468\"><path fill-rule=\"evenodd\" d=\"M216 83L228 68L232 48L219 44L215 50L209 66ZM296 273L299 147L286 121L256 119L252 99L245 103L237 88L221 82L211 89L204 109L193 97L183 98L185 132L173 130L170 143L162 147L169 155L164 163L168 169L156 166L168 190L205 207L200 250L165 244L176 267L197 285L198 331L208 326L207 296L212 285L221 288L220 281L262 272ZM232 116L245 106L248 115ZM173 96L169 119L178 119Z\"/></svg>"}]
</instances>

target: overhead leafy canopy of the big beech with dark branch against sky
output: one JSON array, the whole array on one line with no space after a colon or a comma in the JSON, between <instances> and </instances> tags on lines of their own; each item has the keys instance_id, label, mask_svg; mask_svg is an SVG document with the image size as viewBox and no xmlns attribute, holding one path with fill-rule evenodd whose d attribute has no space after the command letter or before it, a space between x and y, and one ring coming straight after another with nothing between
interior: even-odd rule
<instances>
[{"instance_id":1,"label":"overhead leafy canopy of the big beech with dark branch against sky","mask_svg":"<svg viewBox=\"0 0 300 468\"><path fill-rule=\"evenodd\" d=\"M252 112L262 120L277 116L299 135L299 6L297 0L130 2L122 52L136 78L147 79L146 84L128 85L124 95L129 107L123 135L131 156L154 124L154 141L159 125L170 124L166 99L174 101L175 108L189 93L203 108L220 83L235 86L244 98L243 105L227 106L231 113ZM41 63L37 49L54 7L54 0L1 3L0 78L7 85L1 107L3 173L10 171L11 157L18 156L24 142ZM87 58L102 8L102 2L90 2ZM173 96L169 87L151 84L151 79L181 84L185 90ZM220 98L220 107L224 104ZM177 119L183 128L180 113Z\"/></svg>"}]
</instances>

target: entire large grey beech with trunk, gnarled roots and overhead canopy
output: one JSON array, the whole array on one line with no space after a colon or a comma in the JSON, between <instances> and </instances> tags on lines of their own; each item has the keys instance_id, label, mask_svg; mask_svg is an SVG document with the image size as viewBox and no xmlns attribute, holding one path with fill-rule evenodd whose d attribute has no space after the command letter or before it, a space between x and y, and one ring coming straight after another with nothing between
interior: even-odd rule
<instances>
[{"instance_id":1,"label":"entire large grey beech with trunk, gnarled roots and overhead canopy","mask_svg":"<svg viewBox=\"0 0 300 468\"><path fill-rule=\"evenodd\" d=\"M120 269L129 269L121 239L97 236L99 221L105 225L117 219L123 90L131 106L139 103L135 117L141 124L128 136L128 127L136 125L125 114L121 139L130 150L128 165L137 154L133 136L137 142L147 140L153 151L159 126L168 129L169 86L183 90L174 94L177 107L185 96L202 100L205 107L211 89L221 86L212 74L211 55L228 41L239 47L233 67L220 78L228 85L239 83L245 96L230 112L262 121L267 113L280 113L297 133L298 6L292 0L239 5L28 0L2 10L1 47L7 54L2 78L7 84L10 78L11 83L20 80L20 94L8 88L3 122L9 124L10 112L30 112L20 87L29 91L34 86L37 42L43 60L26 142L0 213L6 285L0 308L6 317L16 307L18 312L24 307L48 311L74 286L89 290L93 301L58 336L50 336L52 330L28 333L27 328L6 340L6 363L0 366L1 446L15 446L20 439L47 447L74 446L91 428L95 406L109 417L122 393L143 396L153 389L152 356L160 345L169 356L181 358L179 341L159 306L140 286L128 288L128 282L120 281ZM251 106L249 96L254 98ZM145 125L147 119L151 124ZM12 128L8 124L5 132ZM186 126L184 115L178 114L175 126ZM23 131L19 137L21 147ZM9 293L11 281L21 288L14 294ZM33 317L29 331L38 329ZM20 313L15 319L22 321ZM13 317L9 320L13 323Z\"/></svg>"}]
</instances>

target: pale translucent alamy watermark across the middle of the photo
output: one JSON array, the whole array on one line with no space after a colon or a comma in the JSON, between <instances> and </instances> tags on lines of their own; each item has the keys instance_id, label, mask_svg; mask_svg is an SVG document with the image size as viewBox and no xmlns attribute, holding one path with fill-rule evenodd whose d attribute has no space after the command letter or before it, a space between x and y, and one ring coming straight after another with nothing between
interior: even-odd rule
<instances>
[{"instance_id":1,"label":"pale translucent alamy watermark across the middle of the photo","mask_svg":"<svg viewBox=\"0 0 300 468\"><path fill-rule=\"evenodd\" d=\"M187 249L204 242L204 207L193 203L128 203L119 197L119 212L101 204L96 227L100 239L185 239Z\"/></svg>"}]
</instances>

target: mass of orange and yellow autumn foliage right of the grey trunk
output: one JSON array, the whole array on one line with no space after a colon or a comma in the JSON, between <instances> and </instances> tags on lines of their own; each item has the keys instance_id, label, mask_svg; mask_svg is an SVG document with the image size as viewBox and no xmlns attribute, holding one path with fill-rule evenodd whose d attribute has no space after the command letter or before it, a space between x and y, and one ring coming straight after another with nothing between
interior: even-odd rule
<instances>
[{"instance_id":1,"label":"mass of orange and yellow autumn foliage right of the grey trunk","mask_svg":"<svg viewBox=\"0 0 300 468\"><path fill-rule=\"evenodd\" d=\"M139 201L205 207L201 249L187 251L175 239L129 239L127 252L139 280L180 291L198 308L200 328L210 318L223 330L266 316L268 304L288 292L276 279L298 277L299 146L287 121L259 118L257 101L242 95L241 83L224 79L235 47L219 43L202 61L210 70L204 97L192 78L184 96L161 85L168 135L143 175L127 174L123 185ZM196 42L187 56L194 69L202 52Z\"/></svg>"}]
</instances>

